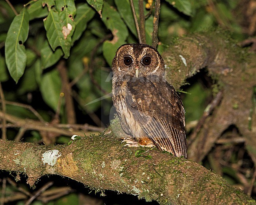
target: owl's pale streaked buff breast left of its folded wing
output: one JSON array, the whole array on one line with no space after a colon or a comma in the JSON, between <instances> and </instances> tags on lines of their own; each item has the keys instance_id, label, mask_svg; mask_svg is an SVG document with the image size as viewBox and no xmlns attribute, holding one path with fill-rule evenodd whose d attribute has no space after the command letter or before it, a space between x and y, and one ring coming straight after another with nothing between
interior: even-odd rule
<instances>
[{"instance_id":1,"label":"owl's pale streaked buff breast left of its folded wing","mask_svg":"<svg viewBox=\"0 0 256 205\"><path fill-rule=\"evenodd\" d=\"M141 125L137 123L133 113L128 109L126 98L130 96L131 93L128 90L127 82L113 83L112 93L113 103L119 115L123 130L127 134L135 137L135 139L139 139L140 136L145 135Z\"/></svg>"}]
</instances>

